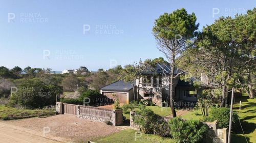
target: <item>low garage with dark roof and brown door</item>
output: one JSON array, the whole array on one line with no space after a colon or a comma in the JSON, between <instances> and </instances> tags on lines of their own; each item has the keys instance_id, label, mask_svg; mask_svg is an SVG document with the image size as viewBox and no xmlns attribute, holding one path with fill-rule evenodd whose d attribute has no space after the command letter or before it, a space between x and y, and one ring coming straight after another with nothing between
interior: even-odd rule
<instances>
[{"instance_id":1,"label":"low garage with dark roof and brown door","mask_svg":"<svg viewBox=\"0 0 256 143\"><path fill-rule=\"evenodd\" d=\"M135 85L135 82L130 83L119 80L100 88L100 93L109 99L113 99L112 95L116 94L116 99L119 99L119 103L128 104L134 100L134 90L136 92L136 87L133 85ZM134 90L133 87L135 88Z\"/></svg>"}]
</instances>

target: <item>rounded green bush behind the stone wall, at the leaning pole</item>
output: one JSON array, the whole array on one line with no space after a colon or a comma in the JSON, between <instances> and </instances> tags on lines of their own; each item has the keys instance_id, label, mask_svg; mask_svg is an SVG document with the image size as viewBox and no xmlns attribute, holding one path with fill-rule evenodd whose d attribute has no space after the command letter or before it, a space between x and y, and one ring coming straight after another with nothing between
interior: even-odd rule
<instances>
[{"instance_id":1,"label":"rounded green bush behind the stone wall, at the leaning pole","mask_svg":"<svg viewBox=\"0 0 256 143\"><path fill-rule=\"evenodd\" d=\"M229 128L229 116L230 108L227 107L211 107L209 111L209 116L204 118L204 121L214 122L218 121L220 128ZM236 111L232 112L232 131L239 131L239 119L238 113Z\"/></svg>"}]
</instances>

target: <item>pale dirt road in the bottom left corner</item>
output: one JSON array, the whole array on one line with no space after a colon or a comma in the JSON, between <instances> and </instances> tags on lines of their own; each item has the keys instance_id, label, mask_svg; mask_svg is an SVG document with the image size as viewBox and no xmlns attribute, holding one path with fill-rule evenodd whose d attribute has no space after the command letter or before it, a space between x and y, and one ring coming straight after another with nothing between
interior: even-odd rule
<instances>
[{"instance_id":1,"label":"pale dirt road in the bottom left corner","mask_svg":"<svg viewBox=\"0 0 256 143\"><path fill-rule=\"evenodd\" d=\"M8 124L0 123L0 142L13 143L13 142L50 142L54 141L39 135L31 134L22 130L9 127Z\"/></svg>"}]
</instances>

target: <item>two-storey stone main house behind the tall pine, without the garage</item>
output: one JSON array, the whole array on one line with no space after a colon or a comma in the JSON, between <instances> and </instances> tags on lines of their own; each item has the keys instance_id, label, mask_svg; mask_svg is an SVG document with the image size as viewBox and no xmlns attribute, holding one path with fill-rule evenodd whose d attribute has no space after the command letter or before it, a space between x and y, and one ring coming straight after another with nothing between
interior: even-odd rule
<instances>
[{"instance_id":1,"label":"two-storey stone main house behind the tall pine, without the garage","mask_svg":"<svg viewBox=\"0 0 256 143\"><path fill-rule=\"evenodd\" d=\"M174 75L187 74L181 70L174 70ZM139 85L139 95L143 99L152 100L158 106L162 106L162 102L169 102L170 94L170 77L171 68L169 65L157 64L153 71L146 72L144 77L137 79L136 85ZM179 76L174 79L174 101L197 102L197 92L195 91L194 82L201 82L196 77L190 77L186 81L181 80ZM203 82L202 87L207 87Z\"/></svg>"}]
</instances>

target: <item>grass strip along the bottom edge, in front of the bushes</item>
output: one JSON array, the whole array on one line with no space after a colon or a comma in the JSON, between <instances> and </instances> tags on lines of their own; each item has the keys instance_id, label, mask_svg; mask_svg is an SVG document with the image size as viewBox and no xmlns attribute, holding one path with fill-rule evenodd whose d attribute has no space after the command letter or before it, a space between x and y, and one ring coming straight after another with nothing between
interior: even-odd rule
<instances>
[{"instance_id":1,"label":"grass strip along the bottom edge, in front of the bushes","mask_svg":"<svg viewBox=\"0 0 256 143\"><path fill-rule=\"evenodd\" d=\"M136 130L132 129L126 129L122 130L116 134L113 134L111 136L103 137L100 139L92 140L97 143L125 143L125 142L145 142L145 143L150 143L150 142L177 142L177 140L172 139L172 138L162 138L159 137L158 135L152 135L152 134L136 134L137 138L135 141L135 133L138 132Z\"/></svg>"}]
</instances>

